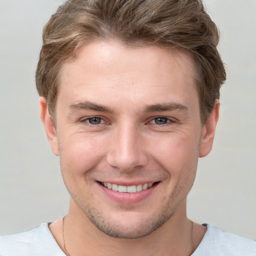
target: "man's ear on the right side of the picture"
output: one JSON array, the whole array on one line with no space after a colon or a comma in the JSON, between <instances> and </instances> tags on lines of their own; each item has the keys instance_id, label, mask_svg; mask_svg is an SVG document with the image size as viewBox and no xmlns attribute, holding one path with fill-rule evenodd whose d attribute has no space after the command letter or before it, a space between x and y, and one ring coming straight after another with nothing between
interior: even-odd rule
<instances>
[{"instance_id":1,"label":"man's ear on the right side of the picture","mask_svg":"<svg viewBox=\"0 0 256 256\"><path fill-rule=\"evenodd\" d=\"M208 119L206 120L205 124L202 127L199 157L206 156L212 148L215 128L218 121L218 115L219 115L219 100L216 99L214 108L212 109Z\"/></svg>"}]
</instances>

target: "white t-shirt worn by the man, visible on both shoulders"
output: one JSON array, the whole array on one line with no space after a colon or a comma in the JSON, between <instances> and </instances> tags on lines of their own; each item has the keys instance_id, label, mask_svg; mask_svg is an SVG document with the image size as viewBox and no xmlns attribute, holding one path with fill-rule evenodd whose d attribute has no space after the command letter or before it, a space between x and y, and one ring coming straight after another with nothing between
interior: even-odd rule
<instances>
[{"instance_id":1,"label":"white t-shirt worn by the man, visible on both shoulders","mask_svg":"<svg viewBox=\"0 0 256 256\"><path fill-rule=\"evenodd\" d=\"M202 241L191 256L256 256L256 242L219 227L206 225ZM65 256L48 223L27 232L0 236L0 256Z\"/></svg>"}]
</instances>

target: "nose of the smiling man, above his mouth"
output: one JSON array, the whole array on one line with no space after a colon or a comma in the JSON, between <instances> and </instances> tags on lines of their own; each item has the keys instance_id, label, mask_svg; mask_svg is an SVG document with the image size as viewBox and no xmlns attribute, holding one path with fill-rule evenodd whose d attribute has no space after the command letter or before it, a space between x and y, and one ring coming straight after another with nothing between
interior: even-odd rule
<instances>
[{"instance_id":1,"label":"nose of the smiling man, above his mouth","mask_svg":"<svg viewBox=\"0 0 256 256\"><path fill-rule=\"evenodd\" d=\"M110 166L122 171L131 171L146 164L147 155L143 139L134 126L122 125L113 132L107 154L107 163Z\"/></svg>"}]
</instances>

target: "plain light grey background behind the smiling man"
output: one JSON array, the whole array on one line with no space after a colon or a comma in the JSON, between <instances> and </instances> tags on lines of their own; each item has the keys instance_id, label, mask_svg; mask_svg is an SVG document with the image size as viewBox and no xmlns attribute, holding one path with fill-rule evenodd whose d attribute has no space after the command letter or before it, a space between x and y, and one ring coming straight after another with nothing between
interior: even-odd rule
<instances>
[{"instance_id":1,"label":"plain light grey background behind the smiling man","mask_svg":"<svg viewBox=\"0 0 256 256\"><path fill-rule=\"evenodd\" d=\"M39 118L41 30L62 0L0 0L0 234L62 217L69 196ZM212 152L199 159L188 217L256 240L256 0L205 0L227 82Z\"/></svg>"}]
</instances>

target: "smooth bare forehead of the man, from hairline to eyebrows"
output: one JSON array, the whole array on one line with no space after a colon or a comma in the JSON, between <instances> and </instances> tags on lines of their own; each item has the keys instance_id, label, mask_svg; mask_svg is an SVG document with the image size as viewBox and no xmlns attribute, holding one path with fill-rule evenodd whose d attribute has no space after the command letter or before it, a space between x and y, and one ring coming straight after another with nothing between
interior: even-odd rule
<instances>
[{"instance_id":1,"label":"smooth bare forehead of the man, from hairline to eyebrows","mask_svg":"<svg viewBox=\"0 0 256 256\"><path fill-rule=\"evenodd\" d=\"M97 41L79 48L62 66L58 98L102 104L197 98L192 57L178 48L125 47ZM112 97L112 102L107 101ZM59 99L57 99L59 100ZM124 102L123 102L124 100ZM107 102L104 102L107 101ZM158 102L157 102L158 101Z\"/></svg>"}]
</instances>

